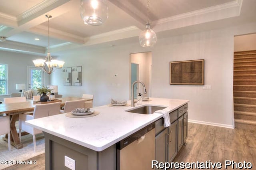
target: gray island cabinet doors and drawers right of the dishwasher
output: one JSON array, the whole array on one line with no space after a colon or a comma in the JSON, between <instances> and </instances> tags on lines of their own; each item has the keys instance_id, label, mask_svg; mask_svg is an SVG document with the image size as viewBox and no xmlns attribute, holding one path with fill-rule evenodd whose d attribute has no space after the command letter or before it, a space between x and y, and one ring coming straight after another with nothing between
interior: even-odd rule
<instances>
[{"instance_id":1,"label":"gray island cabinet doors and drawers right of the dishwasher","mask_svg":"<svg viewBox=\"0 0 256 170\"><path fill-rule=\"evenodd\" d=\"M188 104L170 113L171 125L164 127L164 118L155 122L156 160L172 162L188 137Z\"/></svg>"}]
</instances>

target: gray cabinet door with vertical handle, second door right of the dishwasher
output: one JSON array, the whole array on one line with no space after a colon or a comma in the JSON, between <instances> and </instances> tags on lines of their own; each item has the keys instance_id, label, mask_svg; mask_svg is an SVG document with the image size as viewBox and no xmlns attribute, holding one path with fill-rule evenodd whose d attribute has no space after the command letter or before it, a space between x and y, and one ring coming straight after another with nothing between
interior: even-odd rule
<instances>
[{"instance_id":1,"label":"gray cabinet door with vertical handle, second door right of the dishwasher","mask_svg":"<svg viewBox=\"0 0 256 170\"><path fill-rule=\"evenodd\" d=\"M168 162L172 162L177 155L177 132L178 123L174 121L170 127L168 127Z\"/></svg>"}]
</instances>

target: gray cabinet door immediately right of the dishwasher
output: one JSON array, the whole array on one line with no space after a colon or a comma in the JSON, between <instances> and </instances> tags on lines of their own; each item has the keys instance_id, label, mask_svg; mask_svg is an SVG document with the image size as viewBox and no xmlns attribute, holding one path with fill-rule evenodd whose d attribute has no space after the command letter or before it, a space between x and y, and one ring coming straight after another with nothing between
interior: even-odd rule
<instances>
[{"instance_id":1,"label":"gray cabinet door immediately right of the dishwasher","mask_svg":"<svg viewBox=\"0 0 256 170\"><path fill-rule=\"evenodd\" d=\"M156 135L156 160L158 162L166 162L167 161L167 140L168 140L168 130L165 128L162 132Z\"/></svg>"}]
</instances>

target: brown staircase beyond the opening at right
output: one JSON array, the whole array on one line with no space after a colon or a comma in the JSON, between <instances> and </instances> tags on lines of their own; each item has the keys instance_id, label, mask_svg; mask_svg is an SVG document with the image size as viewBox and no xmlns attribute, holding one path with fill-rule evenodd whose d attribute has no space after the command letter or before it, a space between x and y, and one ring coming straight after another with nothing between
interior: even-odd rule
<instances>
[{"instance_id":1,"label":"brown staircase beyond the opening at right","mask_svg":"<svg viewBox=\"0 0 256 170\"><path fill-rule=\"evenodd\" d=\"M234 52L235 127L256 128L256 50Z\"/></svg>"}]
</instances>

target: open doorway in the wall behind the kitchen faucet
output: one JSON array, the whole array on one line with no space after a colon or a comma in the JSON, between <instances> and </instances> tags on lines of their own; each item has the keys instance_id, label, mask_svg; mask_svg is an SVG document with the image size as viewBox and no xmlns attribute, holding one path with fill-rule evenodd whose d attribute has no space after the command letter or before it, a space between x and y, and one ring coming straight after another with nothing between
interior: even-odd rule
<instances>
[{"instance_id":1,"label":"open doorway in the wall behind the kitchen faucet","mask_svg":"<svg viewBox=\"0 0 256 170\"><path fill-rule=\"evenodd\" d=\"M151 96L151 67L152 67L152 52L132 53L130 54L130 93L132 83L136 80L142 81L147 89L147 94L140 83L134 85L134 97L138 93L142 93L143 97Z\"/></svg>"}]
</instances>

